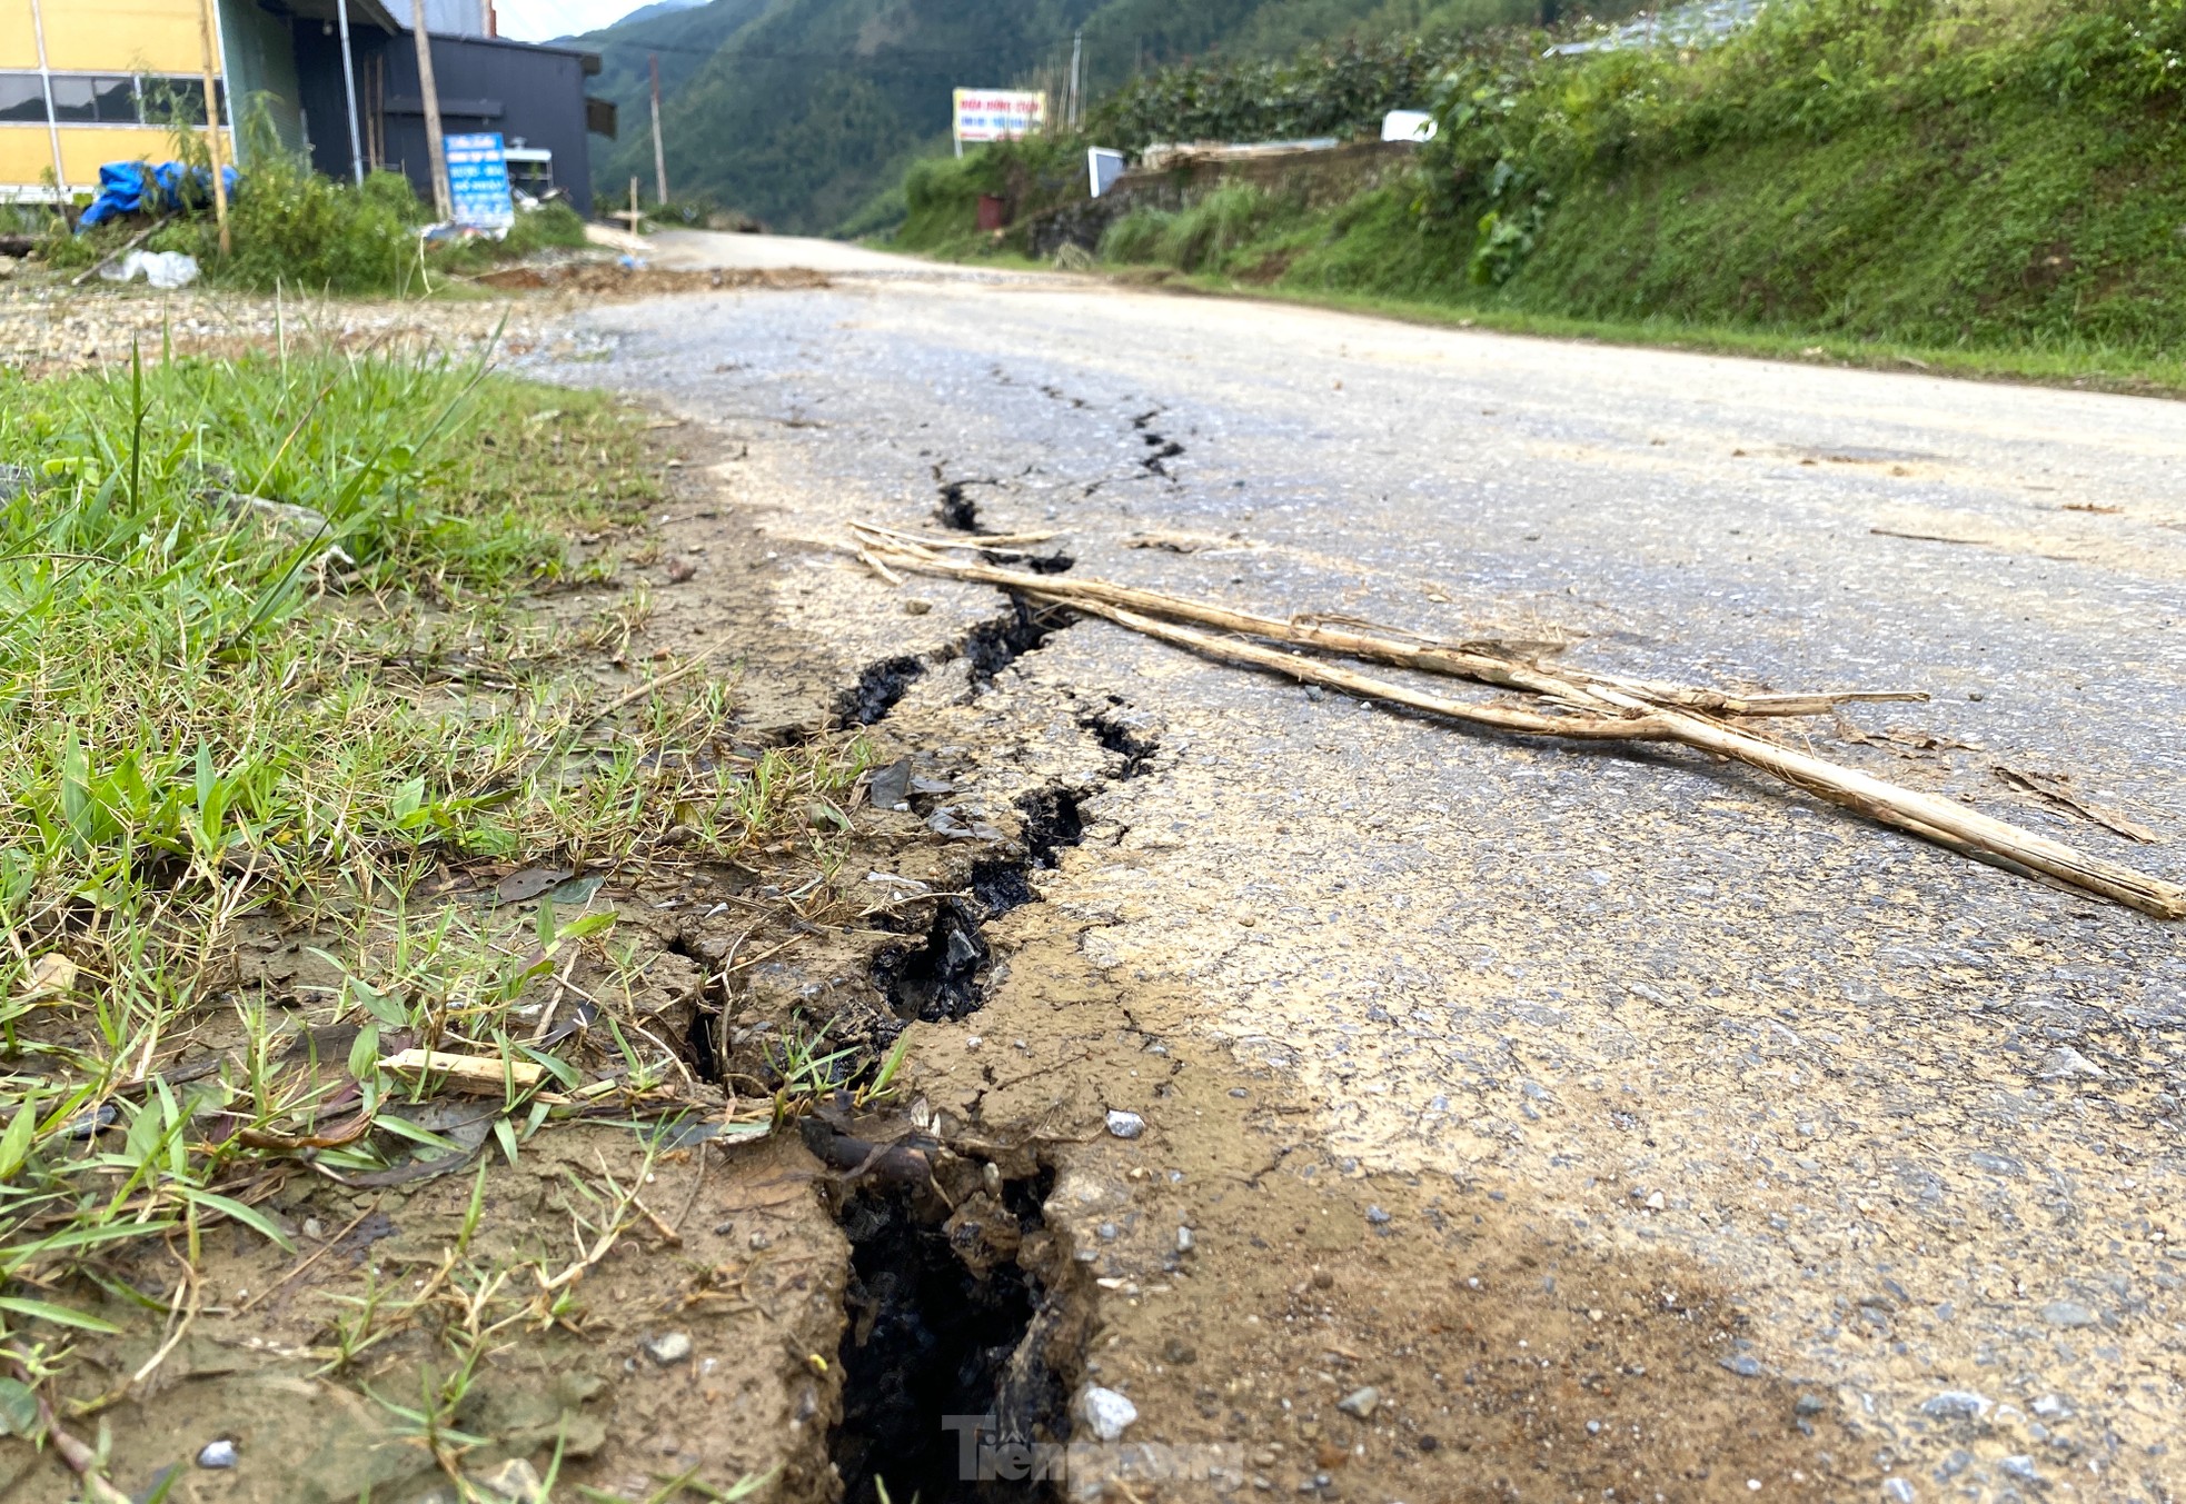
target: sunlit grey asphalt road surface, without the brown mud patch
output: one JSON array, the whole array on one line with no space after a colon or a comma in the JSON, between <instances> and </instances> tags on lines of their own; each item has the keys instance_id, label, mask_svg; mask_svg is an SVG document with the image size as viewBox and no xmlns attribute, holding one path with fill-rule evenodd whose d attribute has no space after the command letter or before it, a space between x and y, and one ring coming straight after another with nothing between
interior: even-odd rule
<instances>
[{"instance_id":1,"label":"sunlit grey asphalt road surface, without the brown mud patch","mask_svg":"<svg viewBox=\"0 0 2186 1504\"><path fill-rule=\"evenodd\" d=\"M912 581L907 616L824 547L962 483L1080 575L1926 689L1817 748L2186 877L2186 407L942 269L581 332L546 374L748 446L724 494L846 682L995 614ZM1043 923L1314 1102L1327 1172L1705 1268L1751 1320L1733 1371L1854 1421L1860 1497L2186 1487L2186 929L1683 752L1471 735L1097 621L905 704L1038 763L1100 695L1159 752L1089 800Z\"/></svg>"}]
</instances>

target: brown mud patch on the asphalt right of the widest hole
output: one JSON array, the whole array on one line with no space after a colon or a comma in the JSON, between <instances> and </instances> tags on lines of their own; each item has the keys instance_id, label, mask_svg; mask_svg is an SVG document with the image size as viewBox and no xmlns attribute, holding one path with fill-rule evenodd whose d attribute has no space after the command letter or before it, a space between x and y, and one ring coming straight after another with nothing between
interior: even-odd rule
<instances>
[{"instance_id":1,"label":"brown mud patch on the asphalt right of the widest hole","mask_svg":"<svg viewBox=\"0 0 2186 1504\"><path fill-rule=\"evenodd\" d=\"M1117 986L1080 936L1049 905L990 936L1010 979L984 1032L1038 1041L1036 1062L916 1062L936 1106L1056 1145L1047 1226L1102 1292L1082 1375L1141 1417L1091 1471L1073 1456L1071 1497L1124 1497L1104 1469L1148 1500L1876 1495L1873 1441L1758 1340L1736 1290L1591 1231L1624 1187L1550 1207L1364 1174L1314 1132L1320 1102L1189 1038L1194 992ZM1143 1132L1104 1132L1115 1108ZM1200 1473L1132 1471L1154 1443Z\"/></svg>"}]
</instances>

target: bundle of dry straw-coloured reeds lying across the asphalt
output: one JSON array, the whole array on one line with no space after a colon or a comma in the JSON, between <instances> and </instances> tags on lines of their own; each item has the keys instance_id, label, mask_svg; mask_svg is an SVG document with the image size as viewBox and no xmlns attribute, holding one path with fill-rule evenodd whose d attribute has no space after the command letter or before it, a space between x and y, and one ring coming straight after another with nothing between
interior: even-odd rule
<instances>
[{"instance_id":1,"label":"bundle of dry straw-coloured reeds lying across the asphalt","mask_svg":"<svg viewBox=\"0 0 2186 1504\"><path fill-rule=\"evenodd\" d=\"M1104 616L1132 632L1189 647L1209 658L1270 669L1362 700L1401 704L1473 726L1528 737L1679 741L1758 767L1817 798L1856 809L1871 820L1911 831L1961 855L2112 898L2155 918L2186 918L2186 888L2179 883L2090 857L2064 842L2005 820L1991 820L1959 800L1904 789L1856 767L1771 741L1738 724L1764 717L1827 715L1854 702L1926 700L1928 695L1919 691L1736 695L1690 684L1629 680L1567 665L1543 667L1539 658L1504 643L1441 643L1344 616L1283 621L1159 590L1137 590L1104 579L1032 575L944 553L944 549L990 544L988 538L957 544L955 540L918 538L870 525L855 525L853 533L857 555L890 581L901 581L901 573L918 573L990 584L1032 601ZM1211 627L1211 632L1202 627ZM1274 647L1277 643L1283 647ZM1292 651L1283 651L1285 647ZM1296 649L1473 680L1519 691L1530 697L1530 704L1452 700Z\"/></svg>"}]
</instances>

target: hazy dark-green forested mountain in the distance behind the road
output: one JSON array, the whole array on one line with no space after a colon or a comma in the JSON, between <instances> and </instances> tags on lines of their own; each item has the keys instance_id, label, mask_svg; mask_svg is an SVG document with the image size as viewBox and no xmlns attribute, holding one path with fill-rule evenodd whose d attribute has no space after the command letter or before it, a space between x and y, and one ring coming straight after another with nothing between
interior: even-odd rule
<instances>
[{"instance_id":1,"label":"hazy dark-green forested mountain in the distance behind the road","mask_svg":"<svg viewBox=\"0 0 2186 1504\"><path fill-rule=\"evenodd\" d=\"M776 230L826 232L949 138L949 90L1049 87L1084 28L1086 90L1222 52L1277 55L1344 35L1539 20L1541 0L713 0L573 39L623 131L595 151L601 190L651 190L647 55L660 57L669 188Z\"/></svg>"}]
</instances>

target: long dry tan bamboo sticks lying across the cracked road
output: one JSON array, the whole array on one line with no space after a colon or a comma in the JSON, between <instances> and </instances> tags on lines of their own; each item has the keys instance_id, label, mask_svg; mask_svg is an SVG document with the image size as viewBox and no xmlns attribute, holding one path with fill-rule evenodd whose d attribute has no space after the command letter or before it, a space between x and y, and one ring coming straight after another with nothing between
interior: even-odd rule
<instances>
[{"instance_id":1,"label":"long dry tan bamboo sticks lying across the cracked road","mask_svg":"<svg viewBox=\"0 0 2186 1504\"><path fill-rule=\"evenodd\" d=\"M1784 783L1790 783L1793 787L1854 809L1871 820L1900 826L1924 839L1937 839L1952 850L1996 857L2007 866L2040 872L2081 892L2123 903L2155 918L2186 918L2186 885L2169 883L2116 861L2090 857L2088 853L2066 846L2064 842L2055 842L2005 820L1976 813L1956 800L1904 789L1810 752L1766 741L1714 719L1707 713L1690 710L1679 704L1659 704L1642 691L1661 686L1650 686L1646 682L1620 682L1611 675L1563 678L1535 665L1500 660L1478 649L1412 645L1364 632L1288 623L1272 616L1233 612L1202 601L1185 601L1156 590L1135 590L1130 586L1115 586L1100 579L1060 581L1051 575L1023 575L979 564L955 564L951 560L927 555L925 551L901 551L901 547L890 551L898 555L905 568L997 584L1023 595L1104 616L1117 625L1130 627L1132 632L1143 632L1145 636L1176 643L1178 647L1189 647L1211 658L1272 669L1305 682L1327 684L1331 689L1403 704L1434 715L1447 715L1476 726L1546 737L1681 741L1685 745L1701 748L1703 752L1714 752L1749 767L1758 767L1775 778L1782 778ZM1283 654L1257 643L1220 638L1209 632L1176 625L1174 621L1159 621L1145 612L1183 616L1207 625L1220 625L1229 632L1285 641L1303 647L1320 647L1355 658L1379 658L1384 662L1397 662L1412 669L1478 678L1489 684L1537 693L1550 702L1572 706L1578 713L1539 715L1511 706L1482 706L1445 700L1390 680L1377 680L1349 669L1338 669L1333 665L1314 662L1309 658ZM1694 693L1705 695L1712 691ZM1830 708L1852 697L1862 695L1860 691L1852 691L1843 697L1810 695L1808 700L1812 700L1817 708ZM1622 713L1622 717L1618 713Z\"/></svg>"}]
</instances>

